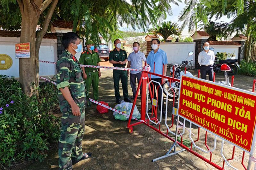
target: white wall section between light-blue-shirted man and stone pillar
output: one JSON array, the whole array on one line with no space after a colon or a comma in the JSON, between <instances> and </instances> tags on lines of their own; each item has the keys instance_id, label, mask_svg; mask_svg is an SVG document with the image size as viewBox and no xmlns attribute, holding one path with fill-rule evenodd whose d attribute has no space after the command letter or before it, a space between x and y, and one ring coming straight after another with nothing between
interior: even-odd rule
<instances>
[{"instance_id":1,"label":"white wall section between light-blue-shirted man and stone pillar","mask_svg":"<svg viewBox=\"0 0 256 170\"><path fill-rule=\"evenodd\" d=\"M195 42L162 42L160 48L166 52L169 64L181 64L190 51L193 51L195 54ZM189 56L186 60L194 60L194 54ZM194 63L195 62L192 61L188 65L194 68Z\"/></svg>"}]
</instances>

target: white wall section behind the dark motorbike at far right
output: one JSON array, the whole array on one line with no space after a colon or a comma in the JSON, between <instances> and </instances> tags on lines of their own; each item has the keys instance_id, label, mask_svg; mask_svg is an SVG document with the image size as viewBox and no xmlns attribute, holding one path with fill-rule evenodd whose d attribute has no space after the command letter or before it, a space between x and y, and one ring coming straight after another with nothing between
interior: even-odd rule
<instances>
[{"instance_id":1,"label":"white wall section behind the dark motorbike at far right","mask_svg":"<svg viewBox=\"0 0 256 170\"><path fill-rule=\"evenodd\" d=\"M226 52L227 54L233 54L235 52L235 57L228 57L227 59L238 59L239 46L211 45L210 47L215 48L214 54L217 54L217 52Z\"/></svg>"}]
</instances>

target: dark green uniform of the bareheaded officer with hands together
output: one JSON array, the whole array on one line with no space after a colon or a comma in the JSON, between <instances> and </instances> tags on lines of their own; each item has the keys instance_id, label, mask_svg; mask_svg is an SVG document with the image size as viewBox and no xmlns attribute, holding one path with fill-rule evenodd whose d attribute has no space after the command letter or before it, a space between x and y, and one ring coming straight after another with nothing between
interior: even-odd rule
<instances>
[{"instance_id":1,"label":"dark green uniform of the bareheaded officer with hands together","mask_svg":"<svg viewBox=\"0 0 256 170\"><path fill-rule=\"evenodd\" d=\"M109 53L109 61L114 60L116 62L124 61L127 59L127 54L125 50L120 49L118 51L116 48ZM126 64L113 64L114 67L125 67ZM120 100L119 92L119 80L121 79L123 95L125 99L129 99L128 96L128 77L126 70L113 70L114 88L116 100Z\"/></svg>"}]
</instances>

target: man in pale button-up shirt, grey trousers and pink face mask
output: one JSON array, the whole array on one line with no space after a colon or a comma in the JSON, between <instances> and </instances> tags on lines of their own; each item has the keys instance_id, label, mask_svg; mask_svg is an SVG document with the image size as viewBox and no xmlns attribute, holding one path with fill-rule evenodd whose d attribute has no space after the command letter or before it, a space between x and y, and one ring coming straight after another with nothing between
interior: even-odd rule
<instances>
[{"instance_id":1,"label":"man in pale button-up shirt, grey trousers and pink face mask","mask_svg":"<svg viewBox=\"0 0 256 170\"><path fill-rule=\"evenodd\" d=\"M134 52L130 53L128 56L128 65L127 68L131 69L142 69L142 60L145 62L146 57L145 54L141 51L139 51L140 44L138 42L133 43L133 50ZM137 87L136 87L136 79L139 84L140 78L141 78L141 71L131 71L128 70L128 76L130 75L130 84L132 87L132 99L135 98ZM141 91L141 86L140 86ZM138 97L140 98L140 97Z\"/></svg>"}]
</instances>

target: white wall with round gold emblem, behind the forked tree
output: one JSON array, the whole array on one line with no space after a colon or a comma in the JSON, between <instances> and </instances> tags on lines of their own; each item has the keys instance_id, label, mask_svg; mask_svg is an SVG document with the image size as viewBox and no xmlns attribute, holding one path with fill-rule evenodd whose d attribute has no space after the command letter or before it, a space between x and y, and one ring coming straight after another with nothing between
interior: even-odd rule
<instances>
[{"instance_id":1,"label":"white wall with round gold emblem, behind the forked tree","mask_svg":"<svg viewBox=\"0 0 256 170\"><path fill-rule=\"evenodd\" d=\"M0 37L0 54L12 58L12 66L7 70L0 70L0 74L19 77L19 59L15 58L15 44L20 42L17 37ZM43 39L39 50L39 60L57 61L57 39ZM55 64L39 63L39 76L53 76L56 74Z\"/></svg>"}]
</instances>

